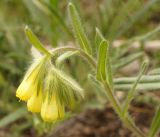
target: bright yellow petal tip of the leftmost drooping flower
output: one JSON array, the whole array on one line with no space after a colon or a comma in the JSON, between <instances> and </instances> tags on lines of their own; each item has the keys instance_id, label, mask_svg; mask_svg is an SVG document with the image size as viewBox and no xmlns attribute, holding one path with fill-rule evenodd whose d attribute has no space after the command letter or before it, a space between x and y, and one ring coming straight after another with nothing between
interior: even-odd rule
<instances>
[{"instance_id":1,"label":"bright yellow petal tip of the leftmost drooping flower","mask_svg":"<svg viewBox=\"0 0 160 137\"><path fill-rule=\"evenodd\" d=\"M32 84L32 81L23 80L16 91L16 97L23 101L27 101L34 91L35 86Z\"/></svg>"}]
</instances>

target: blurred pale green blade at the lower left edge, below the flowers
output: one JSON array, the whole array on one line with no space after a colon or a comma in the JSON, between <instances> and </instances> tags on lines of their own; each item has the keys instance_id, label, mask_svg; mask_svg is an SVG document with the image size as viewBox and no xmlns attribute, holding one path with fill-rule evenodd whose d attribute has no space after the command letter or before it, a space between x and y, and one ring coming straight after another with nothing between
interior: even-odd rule
<instances>
[{"instance_id":1,"label":"blurred pale green blade at the lower left edge, below the flowers","mask_svg":"<svg viewBox=\"0 0 160 137\"><path fill-rule=\"evenodd\" d=\"M25 116L27 113L28 112L24 107L15 110L14 112L8 114L0 120L0 128L7 126L8 124L16 121L17 119Z\"/></svg>"}]
</instances>

